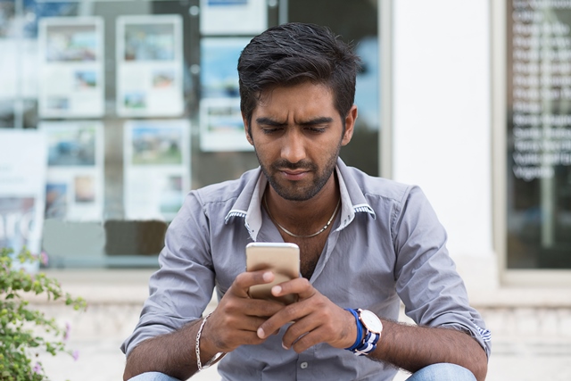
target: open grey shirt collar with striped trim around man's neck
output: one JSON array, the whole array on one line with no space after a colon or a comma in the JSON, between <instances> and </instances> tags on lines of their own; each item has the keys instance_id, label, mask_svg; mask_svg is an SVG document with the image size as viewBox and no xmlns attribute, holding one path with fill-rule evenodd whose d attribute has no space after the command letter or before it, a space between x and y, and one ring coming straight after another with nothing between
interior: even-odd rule
<instances>
[{"instance_id":1,"label":"open grey shirt collar with striped trim around man's neck","mask_svg":"<svg viewBox=\"0 0 571 381\"><path fill-rule=\"evenodd\" d=\"M268 179L262 173L261 168L256 171L257 173L254 173L252 179L244 186L244 190L224 219L224 222L228 224L229 219L233 217L243 218L244 226L254 242L261 229L261 198L268 185ZM340 158L337 158L335 171L341 193L341 222L336 231L341 231L347 227L355 219L355 213L358 212L366 212L377 219L375 211L367 203L359 184L352 176L351 170Z\"/></svg>"}]
</instances>

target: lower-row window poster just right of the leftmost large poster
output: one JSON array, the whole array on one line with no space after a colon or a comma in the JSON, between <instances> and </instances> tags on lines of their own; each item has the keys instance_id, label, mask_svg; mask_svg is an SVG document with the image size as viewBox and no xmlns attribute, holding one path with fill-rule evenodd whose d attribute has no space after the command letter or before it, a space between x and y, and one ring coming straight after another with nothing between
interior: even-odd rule
<instances>
[{"instance_id":1,"label":"lower-row window poster just right of the leftmost large poster","mask_svg":"<svg viewBox=\"0 0 571 381\"><path fill-rule=\"evenodd\" d=\"M103 123L42 122L46 135L46 219L103 219Z\"/></svg>"}]
</instances>

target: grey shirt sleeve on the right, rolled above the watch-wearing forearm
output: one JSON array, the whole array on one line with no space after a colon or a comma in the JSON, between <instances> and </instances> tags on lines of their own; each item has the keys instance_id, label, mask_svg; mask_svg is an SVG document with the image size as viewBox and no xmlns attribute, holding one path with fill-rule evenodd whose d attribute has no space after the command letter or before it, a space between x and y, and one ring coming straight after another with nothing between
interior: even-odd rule
<instances>
[{"instance_id":1,"label":"grey shirt sleeve on the right, rolled above the watch-wearing forearm","mask_svg":"<svg viewBox=\"0 0 571 381\"><path fill-rule=\"evenodd\" d=\"M491 334L469 305L464 282L446 248L446 232L426 195L410 187L394 213L396 291L419 326L451 327L474 337L489 357Z\"/></svg>"}]
</instances>

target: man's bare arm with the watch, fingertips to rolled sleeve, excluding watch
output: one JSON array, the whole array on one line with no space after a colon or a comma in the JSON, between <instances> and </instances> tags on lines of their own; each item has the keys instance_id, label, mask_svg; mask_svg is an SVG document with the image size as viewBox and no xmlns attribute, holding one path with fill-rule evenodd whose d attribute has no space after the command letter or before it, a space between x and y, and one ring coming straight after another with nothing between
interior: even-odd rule
<instances>
[{"instance_id":1,"label":"man's bare arm with the watch, fingertips to rolled sleeve, excluding watch","mask_svg":"<svg viewBox=\"0 0 571 381\"><path fill-rule=\"evenodd\" d=\"M261 338L288 321L283 338L285 348L303 352L319 343L335 348L349 348L357 337L355 318L320 294L304 278L274 286L272 293L299 294L300 301L278 311L258 330ZM377 349L368 357L382 360L401 369L415 372L427 365L449 362L469 369L478 381L487 372L487 358L483 348L469 335L450 328L407 326L393 321L383 321L384 328Z\"/></svg>"}]
</instances>

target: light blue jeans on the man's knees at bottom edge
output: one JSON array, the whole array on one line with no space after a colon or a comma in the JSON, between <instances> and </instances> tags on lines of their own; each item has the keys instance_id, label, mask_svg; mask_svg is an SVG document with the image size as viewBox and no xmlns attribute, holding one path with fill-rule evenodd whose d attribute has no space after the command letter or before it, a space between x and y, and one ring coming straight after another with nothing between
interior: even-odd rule
<instances>
[{"instance_id":1,"label":"light blue jeans on the man's knees at bottom edge","mask_svg":"<svg viewBox=\"0 0 571 381\"><path fill-rule=\"evenodd\" d=\"M159 372L143 373L129 381L179 381ZM466 368L455 364L434 364L418 370L407 381L476 381L476 377Z\"/></svg>"}]
</instances>

